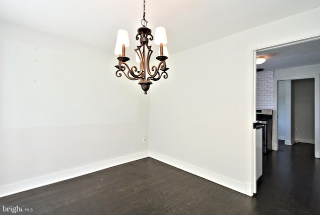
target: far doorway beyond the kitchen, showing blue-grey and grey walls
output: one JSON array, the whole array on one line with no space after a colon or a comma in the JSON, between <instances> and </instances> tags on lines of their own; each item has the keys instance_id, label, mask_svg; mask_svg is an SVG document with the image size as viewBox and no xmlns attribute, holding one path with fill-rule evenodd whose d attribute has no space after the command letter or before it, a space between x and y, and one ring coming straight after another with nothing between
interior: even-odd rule
<instances>
[{"instance_id":1,"label":"far doorway beyond the kitchen, showing blue-grey and grey walls","mask_svg":"<svg viewBox=\"0 0 320 215\"><path fill-rule=\"evenodd\" d=\"M278 81L278 140L314 144L314 79Z\"/></svg>"}]
</instances>

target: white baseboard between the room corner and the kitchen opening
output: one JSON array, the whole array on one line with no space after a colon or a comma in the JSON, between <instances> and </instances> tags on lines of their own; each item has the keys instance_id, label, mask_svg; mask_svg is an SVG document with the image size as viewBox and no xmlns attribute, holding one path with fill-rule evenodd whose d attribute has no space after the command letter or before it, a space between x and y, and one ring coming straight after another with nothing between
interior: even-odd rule
<instances>
[{"instance_id":1,"label":"white baseboard between the room corner and the kitchen opening","mask_svg":"<svg viewBox=\"0 0 320 215\"><path fill-rule=\"evenodd\" d=\"M150 151L151 158L161 161L170 166L176 167L193 175L199 176L216 184L222 185L239 193L252 196L252 186L250 183L243 183L239 181L235 181L231 178L216 174L214 172L193 166L191 164L187 164L185 162L167 157L162 154L158 154L156 152Z\"/></svg>"}]
</instances>

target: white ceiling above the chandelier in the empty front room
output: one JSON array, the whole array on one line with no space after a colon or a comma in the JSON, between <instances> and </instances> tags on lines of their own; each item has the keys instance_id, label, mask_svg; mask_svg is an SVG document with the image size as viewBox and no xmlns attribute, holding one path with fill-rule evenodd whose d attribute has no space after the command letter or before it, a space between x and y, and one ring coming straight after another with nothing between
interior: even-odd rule
<instances>
[{"instance_id":1,"label":"white ceiling above the chandelier in the empty front room","mask_svg":"<svg viewBox=\"0 0 320 215\"><path fill-rule=\"evenodd\" d=\"M166 28L179 52L320 6L320 0L146 0L145 19ZM130 43L141 26L142 0L0 0L0 19L114 50L116 32Z\"/></svg>"}]
</instances>

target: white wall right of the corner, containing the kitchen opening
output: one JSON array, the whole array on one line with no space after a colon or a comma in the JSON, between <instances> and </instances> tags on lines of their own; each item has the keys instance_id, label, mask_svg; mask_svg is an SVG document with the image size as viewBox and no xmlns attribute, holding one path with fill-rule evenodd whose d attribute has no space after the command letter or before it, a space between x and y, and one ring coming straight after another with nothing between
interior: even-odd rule
<instances>
[{"instance_id":1,"label":"white wall right of the corner, containing the kitchen opening","mask_svg":"<svg viewBox=\"0 0 320 215\"><path fill-rule=\"evenodd\" d=\"M253 50L318 34L320 8L170 55L150 97L150 155L252 195Z\"/></svg>"}]
</instances>

